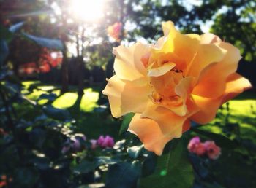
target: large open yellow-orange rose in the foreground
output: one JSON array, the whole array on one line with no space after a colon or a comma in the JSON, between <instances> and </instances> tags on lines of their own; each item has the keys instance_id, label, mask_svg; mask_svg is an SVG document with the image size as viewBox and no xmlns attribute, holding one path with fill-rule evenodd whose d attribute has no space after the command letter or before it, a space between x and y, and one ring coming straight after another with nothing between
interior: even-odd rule
<instances>
[{"instance_id":1,"label":"large open yellow-orange rose in the foreground","mask_svg":"<svg viewBox=\"0 0 256 188\"><path fill-rule=\"evenodd\" d=\"M116 75L103 90L113 117L134 112L129 131L158 155L191 120L211 122L222 103L251 87L236 73L241 56L233 45L214 34L180 34L170 21L162 28L154 45L113 50Z\"/></svg>"}]
</instances>

